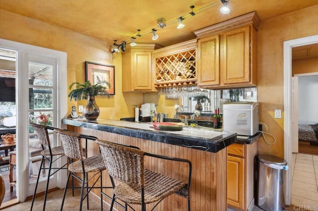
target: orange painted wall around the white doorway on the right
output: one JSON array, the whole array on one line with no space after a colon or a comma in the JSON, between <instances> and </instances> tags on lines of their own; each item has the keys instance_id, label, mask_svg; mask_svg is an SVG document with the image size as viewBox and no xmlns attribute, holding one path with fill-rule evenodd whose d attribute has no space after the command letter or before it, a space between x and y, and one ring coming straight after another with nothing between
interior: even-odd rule
<instances>
[{"instance_id":1,"label":"orange painted wall around the white doorway on the right","mask_svg":"<svg viewBox=\"0 0 318 211\"><path fill-rule=\"evenodd\" d=\"M260 122L267 124L276 138L268 145L261 138L259 154L284 157L284 41L318 34L318 5L262 20L257 34L257 101ZM274 109L282 109L282 118L274 118ZM263 127L264 128L264 127ZM268 137L268 138L267 138ZM268 142L273 139L266 136Z\"/></svg>"}]
</instances>

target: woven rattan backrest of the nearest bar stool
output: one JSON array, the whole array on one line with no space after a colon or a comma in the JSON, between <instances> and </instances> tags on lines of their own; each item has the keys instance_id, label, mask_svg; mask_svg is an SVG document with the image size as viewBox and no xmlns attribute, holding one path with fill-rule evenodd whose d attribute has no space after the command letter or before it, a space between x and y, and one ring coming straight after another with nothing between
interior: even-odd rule
<instances>
[{"instance_id":1,"label":"woven rattan backrest of the nearest bar stool","mask_svg":"<svg viewBox=\"0 0 318 211\"><path fill-rule=\"evenodd\" d=\"M144 151L97 139L107 171L118 181L145 186Z\"/></svg>"}]
</instances>

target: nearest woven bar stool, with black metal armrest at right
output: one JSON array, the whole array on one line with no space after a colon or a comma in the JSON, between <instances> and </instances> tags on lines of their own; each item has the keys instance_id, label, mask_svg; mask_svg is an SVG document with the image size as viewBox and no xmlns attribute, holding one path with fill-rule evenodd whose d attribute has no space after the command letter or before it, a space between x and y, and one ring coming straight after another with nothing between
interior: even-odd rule
<instances>
[{"instance_id":1,"label":"nearest woven bar stool, with black metal armrest at right","mask_svg":"<svg viewBox=\"0 0 318 211\"><path fill-rule=\"evenodd\" d=\"M139 204L142 211L146 211L146 204L157 202L154 209L165 197L174 193L187 199L188 211L190 211L192 168L190 160L150 154L99 139L96 143L99 144L109 175L118 181L114 187L110 211L113 209L116 198L125 202L126 205L127 203ZM146 169L145 156L187 162L189 165L187 183Z\"/></svg>"}]
</instances>

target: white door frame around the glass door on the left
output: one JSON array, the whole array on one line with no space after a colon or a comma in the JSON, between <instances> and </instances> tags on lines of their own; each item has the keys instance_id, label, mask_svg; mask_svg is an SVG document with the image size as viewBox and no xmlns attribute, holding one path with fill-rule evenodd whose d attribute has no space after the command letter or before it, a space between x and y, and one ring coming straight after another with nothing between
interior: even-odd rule
<instances>
[{"instance_id":1,"label":"white door frame around the glass door on the left","mask_svg":"<svg viewBox=\"0 0 318 211\"><path fill-rule=\"evenodd\" d=\"M52 49L46 49L42 47L32 46L28 44L18 43L14 41L0 39L0 48L8 49L17 52L17 62L16 67L22 70L28 70L26 65L26 53L32 53L34 55L41 55L56 58L57 60L57 81L58 81L58 102L57 102L57 110L58 116L56 119L57 127L62 127L61 119L63 119L67 115L67 107L65 106L65 102L67 102L67 53L60 52ZM28 118L28 107L21 105L21 103L27 101L28 95L19 95L19 93L23 92L23 87L27 87L28 80L25 80L23 77L19 77L19 71L16 72L17 80L16 80L16 107L17 107L17 123L16 123L16 152L17 152L17 162L16 162L16 194L17 200L20 202L24 202L26 197L28 196L28 187L29 187L29 177L28 177L28 152L25 152L24 149L28 149L28 142L23 140L29 140L28 130L26 130L25 125L29 124ZM19 104L19 102L21 102ZM27 127L28 128L28 127ZM57 172L58 174L58 187L64 187L66 183L66 176L62 176L62 171Z\"/></svg>"}]
</instances>

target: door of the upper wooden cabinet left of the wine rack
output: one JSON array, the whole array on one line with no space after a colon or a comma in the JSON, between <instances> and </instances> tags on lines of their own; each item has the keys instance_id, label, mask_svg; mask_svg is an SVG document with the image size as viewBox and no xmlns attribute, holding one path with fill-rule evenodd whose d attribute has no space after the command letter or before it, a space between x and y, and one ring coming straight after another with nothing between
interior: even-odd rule
<instances>
[{"instance_id":1,"label":"door of the upper wooden cabinet left of the wine rack","mask_svg":"<svg viewBox=\"0 0 318 211\"><path fill-rule=\"evenodd\" d=\"M134 89L152 90L151 52L134 52Z\"/></svg>"}]
</instances>

